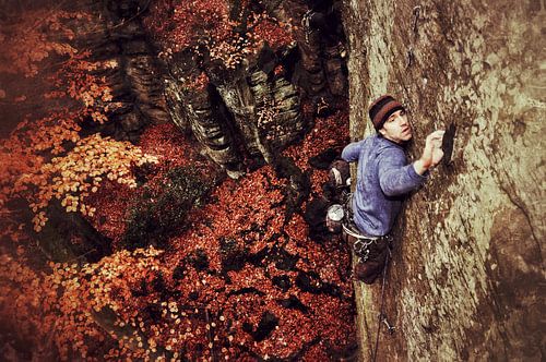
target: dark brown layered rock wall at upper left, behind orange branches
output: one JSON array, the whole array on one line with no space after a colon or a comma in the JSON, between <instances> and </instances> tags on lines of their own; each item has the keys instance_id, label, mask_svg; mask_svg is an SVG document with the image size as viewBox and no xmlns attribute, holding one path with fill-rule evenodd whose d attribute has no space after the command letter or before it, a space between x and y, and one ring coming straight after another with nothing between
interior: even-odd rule
<instances>
[{"instance_id":1,"label":"dark brown layered rock wall at upper left, behind orange branches","mask_svg":"<svg viewBox=\"0 0 546 362\"><path fill-rule=\"evenodd\" d=\"M142 2L142 1L140 1ZM118 122L112 122L114 135L133 138L150 122L168 121L159 64L139 15L139 1L105 1L99 12L104 15L105 36L91 46L97 53L106 47L105 56L115 55L118 67L109 75L115 89ZM98 40L100 41L100 40Z\"/></svg>"}]
</instances>

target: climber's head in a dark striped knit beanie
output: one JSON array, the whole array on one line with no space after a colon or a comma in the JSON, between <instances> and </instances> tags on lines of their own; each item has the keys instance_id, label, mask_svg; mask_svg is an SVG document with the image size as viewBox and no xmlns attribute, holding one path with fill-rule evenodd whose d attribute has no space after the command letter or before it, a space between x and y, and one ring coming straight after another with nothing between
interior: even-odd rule
<instances>
[{"instance_id":1,"label":"climber's head in a dark striped knit beanie","mask_svg":"<svg viewBox=\"0 0 546 362\"><path fill-rule=\"evenodd\" d=\"M376 99L369 108L369 114L376 131L387 140L404 143L412 138L406 110L392 96L384 95Z\"/></svg>"}]
</instances>

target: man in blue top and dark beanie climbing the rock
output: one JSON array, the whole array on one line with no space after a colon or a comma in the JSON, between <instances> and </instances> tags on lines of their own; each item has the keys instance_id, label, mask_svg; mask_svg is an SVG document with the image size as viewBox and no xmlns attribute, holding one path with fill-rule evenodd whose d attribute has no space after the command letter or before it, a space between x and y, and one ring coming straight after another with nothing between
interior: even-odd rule
<instances>
[{"instance_id":1,"label":"man in blue top and dark beanie climbing the rock","mask_svg":"<svg viewBox=\"0 0 546 362\"><path fill-rule=\"evenodd\" d=\"M342 158L358 161L356 189L347 205L348 236L358 263L354 275L371 283L382 273L390 253L389 233L404 196L418 189L443 156L443 131L430 133L422 156L408 164L405 146L412 126L405 108L392 96L376 99L369 108L376 134L345 146ZM352 215L351 215L352 214Z\"/></svg>"}]
</instances>

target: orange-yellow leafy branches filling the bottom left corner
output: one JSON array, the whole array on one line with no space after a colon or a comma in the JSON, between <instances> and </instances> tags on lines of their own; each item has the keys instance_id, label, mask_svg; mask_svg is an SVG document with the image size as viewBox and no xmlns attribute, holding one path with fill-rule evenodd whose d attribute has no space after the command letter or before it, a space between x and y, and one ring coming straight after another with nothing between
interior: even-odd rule
<instances>
[{"instance_id":1,"label":"orange-yellow leafy branches filling the bottom left corner","mask_svg":"<svg viewBox=\"0 0 546 362\"><path fill-rule=\"evenodd\" d=\"M44 274L32 270L24 261L0 254L0 315L7 323L3 326L13 327L13 333L36 345L52 338L48 346L57 347L61 360L68 360L71 352L85 358L90 343L118 338L96 322L96 313L105 309L116 313L118 326L132 326L135 331L159 330L144 323L139 311L149 301L134 299L131 290L142 279L151 281L157 273L166 273L161 255L162 251L153 248L122 251L96 264L49 263L51 273ZM149 346L144 346L144 340ZM134 334L119 339L116 353L127 357L123 347L128 345L138 346L136 352L142 355L157 347L154 339Z\"/></svg>"}]
</instances>

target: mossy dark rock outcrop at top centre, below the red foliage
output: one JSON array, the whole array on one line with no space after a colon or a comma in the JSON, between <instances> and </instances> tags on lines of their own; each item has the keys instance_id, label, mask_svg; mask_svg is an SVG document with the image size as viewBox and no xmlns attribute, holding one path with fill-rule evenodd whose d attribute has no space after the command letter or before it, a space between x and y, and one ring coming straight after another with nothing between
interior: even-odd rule
<instances>
[{"instance_id":1,"label":"mossy dark rock outcrop at top centre, below the red foliage","mask_svg":"<svg viewBox=\"0 0 546 362\"><path fill-rule=\"evenodd\" d=\"M165 96L171 119L182 131L191 130L205 154L233 178L251 161L274 164L281 149L302 136L309 121L301 113L302 98L317 108L327 107L343 98L347 88L344 35L333 2L248 5L285 23L301 20L306 12L311 21L293 29L289 46L273 50L264 44L236 67L224 67L191 49L166 60ZM235 20L244 24L244 15L236 11L239 1L230 1L230 7Z\"/></svg>"}]
</instances>

